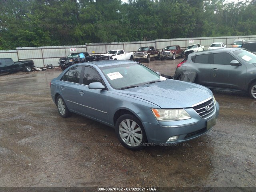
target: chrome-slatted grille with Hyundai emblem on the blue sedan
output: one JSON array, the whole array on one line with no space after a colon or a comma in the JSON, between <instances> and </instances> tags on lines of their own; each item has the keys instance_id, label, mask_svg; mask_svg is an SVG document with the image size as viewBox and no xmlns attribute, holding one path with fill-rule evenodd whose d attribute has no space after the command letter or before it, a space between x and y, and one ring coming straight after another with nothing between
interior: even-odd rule
<instances>
[{"instance_id":1,"label":"chrome-slatted grille with Hyundai emblem on the blue sedan","mask_svg":"<svg viewBox=\"0 0 256 192\"><path fill-rule=\"evenodd\" d=\"M215 105L213 99L210 99L202 104L194 106L193 109L202 117L203 119L209 118L215 112Z\"/></svg>"}]
</instances>

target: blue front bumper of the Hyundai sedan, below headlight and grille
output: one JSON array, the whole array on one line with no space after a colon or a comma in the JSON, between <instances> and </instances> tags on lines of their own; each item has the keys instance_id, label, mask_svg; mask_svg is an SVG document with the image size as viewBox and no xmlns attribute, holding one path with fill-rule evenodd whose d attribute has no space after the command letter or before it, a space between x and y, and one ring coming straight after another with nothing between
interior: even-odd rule
<instances>
[{"instance_id":1,"label":"blue front bumper of the Hyundai sedan, below headlight and grille","mask_svg":"<svg viewBox=\"0 0 256 192\"><path fill-rule=\"evenodd\" d=\"M191 119L172 121L172 122L159 122L159 124L151 124L142 122L149 144L165 145L172 143L181 143L192 140L199 136L206 134L212 129L216 123L219 115L219 104L215 104L215 113L207 119L202 119L198 114L190 110ZM192 112L192 113L191 113ZM173 136L178 136L177 140L167 142Z\"/></svg>"}]
</instances>

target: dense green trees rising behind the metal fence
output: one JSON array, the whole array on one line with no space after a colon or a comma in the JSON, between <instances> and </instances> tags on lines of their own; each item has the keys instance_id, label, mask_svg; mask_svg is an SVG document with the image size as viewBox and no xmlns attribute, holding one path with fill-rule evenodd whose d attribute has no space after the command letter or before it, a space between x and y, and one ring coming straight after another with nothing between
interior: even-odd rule
<instances>
[{"instance_id":1,"label":"dense green trees rising behind the metal fence","mask_svg":"<svg viewBox=\"0 0 256 192\"><path fill-rule=\"evenodd\" d=\"M0 50L256 33L256 0L1 0Z\"/></svg>"}]
</instances>

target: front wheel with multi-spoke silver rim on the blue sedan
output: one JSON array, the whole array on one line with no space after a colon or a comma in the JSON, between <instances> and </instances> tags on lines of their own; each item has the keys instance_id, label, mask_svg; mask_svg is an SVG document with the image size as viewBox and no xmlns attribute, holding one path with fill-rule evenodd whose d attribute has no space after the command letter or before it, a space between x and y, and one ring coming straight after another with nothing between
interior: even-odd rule
<instances>
[{"instance_id":1,"label":"front wheel with multi-spoke silver rim on the blue sedan","mask_svg":"<svg viewBox=\"0 0 256 192\"><path fill-rule=\"evenodd\" d=\"M116 121L116 136L120 143L130 150L142 150L147 143L142 123L134 115L122 115Z\"/></svg>"}]
</instances>

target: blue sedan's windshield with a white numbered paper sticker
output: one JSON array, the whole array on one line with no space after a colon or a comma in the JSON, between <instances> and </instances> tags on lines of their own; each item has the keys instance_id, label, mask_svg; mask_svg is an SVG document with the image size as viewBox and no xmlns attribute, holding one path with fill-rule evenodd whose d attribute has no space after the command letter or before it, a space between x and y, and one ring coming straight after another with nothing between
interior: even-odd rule
<instances>
[{"instance_id":1,"label":"blue sedan's windshield with a white numbered paper sticker","mask_svg":"<svg viewBox=\"0 0 256 192\"><path fill-rule=\"evenodd\" d=\"M139 63L109 64L100 67L100 70L114 89L160 81L160 76L156 72Z\"/></svg>"}]
</instances>

